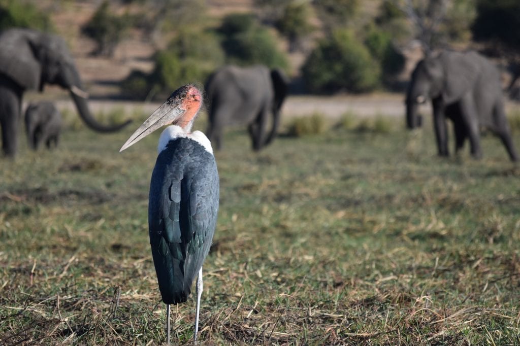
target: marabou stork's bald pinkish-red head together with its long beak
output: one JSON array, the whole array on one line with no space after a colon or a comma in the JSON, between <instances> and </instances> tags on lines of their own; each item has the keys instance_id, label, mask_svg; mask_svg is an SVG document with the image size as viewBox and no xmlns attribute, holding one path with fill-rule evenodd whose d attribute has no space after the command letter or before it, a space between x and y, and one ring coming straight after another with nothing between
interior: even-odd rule
<instances>
[{"instance_id":1,"label":"marabou stork's bald pinkish-red head together with its long beak","mask_svg":"<svg viewBox=\"0 0 520 346\"><path fill-rule=\"evenodd\" d=\"M200 90L191 84L181 86L146 119L119 151L122 152L164 125L178 125L186 132L191 131L201 106Z\"/></svg>"}]
</instances>

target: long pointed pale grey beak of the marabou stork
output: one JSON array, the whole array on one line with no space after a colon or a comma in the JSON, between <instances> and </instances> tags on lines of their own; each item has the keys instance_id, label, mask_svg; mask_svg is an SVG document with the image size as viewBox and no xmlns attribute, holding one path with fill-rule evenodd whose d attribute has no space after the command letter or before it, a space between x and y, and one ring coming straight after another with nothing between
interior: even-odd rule
<instances>
[{"instance_id":1,"label":"long pointed pale grey beak of the marabou stork","mask_svg":"<svg viewBox=\"0 0 520 346\"><path fill-rule=\"evenodd\" d=\"M164 102L164 104L157 110L155 110L155 112L153 112L152 115L150 115L148 119L146 119L145 122L142 123L141 126L139 126L139 128L132 134L132 136L128 138L128 140L123 144L123 147L121 147L119 152L122 152L131 145L134 145L135 143L145 138L158 128L173 123L185 112L186 110L181 108L180 105L172 105L169 104L167 101Z\"/></svg>"}]
</instances>

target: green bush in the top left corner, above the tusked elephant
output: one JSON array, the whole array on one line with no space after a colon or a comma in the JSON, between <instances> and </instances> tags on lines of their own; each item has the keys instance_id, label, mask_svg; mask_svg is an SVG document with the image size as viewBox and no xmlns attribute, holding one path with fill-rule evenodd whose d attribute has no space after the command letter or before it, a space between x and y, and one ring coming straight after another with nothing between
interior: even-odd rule
<instances>
[{"instance_id":1,"label":"green bush in the top left corner, above the tusked elephant","mask_svg":"<svg viewBox=\"0 0 520 346\"><path fill-rule=\"evenodd\" d=\"M34 3L23 0L0 1L0 31L9 28L32 28L53 31L49 15Z\"/></svg>"}]
</instances>

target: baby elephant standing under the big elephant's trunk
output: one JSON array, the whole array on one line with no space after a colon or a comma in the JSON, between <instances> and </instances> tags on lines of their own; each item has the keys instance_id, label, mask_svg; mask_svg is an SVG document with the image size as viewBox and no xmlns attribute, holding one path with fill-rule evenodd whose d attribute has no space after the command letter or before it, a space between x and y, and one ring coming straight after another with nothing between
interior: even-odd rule
<instances>
[{"instance_id":1,"label":"baby elephant standing under the big elephant's trunk","mask_svg":"<svg viewBox=\"0 0 520 346\"><path fill-rule=\"evenodd\" d=\"M25 111L25 130L29 146L37 150L42 142L47 148L58 146L61 131L61 113L52 102L31 103Z\"/></svg>"}]
</instances>

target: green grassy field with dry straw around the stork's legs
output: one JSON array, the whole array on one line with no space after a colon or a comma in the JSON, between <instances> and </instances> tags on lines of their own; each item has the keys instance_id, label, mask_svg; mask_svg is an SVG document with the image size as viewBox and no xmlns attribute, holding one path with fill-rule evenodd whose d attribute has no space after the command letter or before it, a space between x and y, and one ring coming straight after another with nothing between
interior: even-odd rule
<instances>
[{"instance_id":1,"label":"green grassy field with dry straw around the stork's legs","mask_svg":"<svg viewBox=\"0 0 520 346\"><path fill-rule=\"evenodd\" d=\"M440 159L431 127L395 123L259 154L228 132L203 344L520 343L520 169L492 136L480 161ZM147 229L159 134L118 153L139 124L0 161L0 344L164 342ZM174 343L194 310L173 308Z\"/></svg>"}]
</instances>

